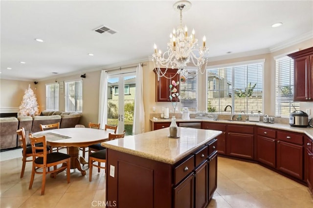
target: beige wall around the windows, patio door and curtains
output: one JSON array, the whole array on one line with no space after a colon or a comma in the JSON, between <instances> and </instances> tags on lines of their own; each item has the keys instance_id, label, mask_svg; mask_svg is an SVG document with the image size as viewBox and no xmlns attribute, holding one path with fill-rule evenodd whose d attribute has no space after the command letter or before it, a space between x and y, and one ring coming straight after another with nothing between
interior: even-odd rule
<instances>
[{"instance_id":1,"label":"beige wall around the windows, patio door and curtains","mask_svg":"<svg viewBox=\"0 0 313 208\"><path fill-rule=\"evenodd\" d=\"M299 44L295 44L288 48L275 51L273 53L246 56L236 59L228 59L223 61L211 61L210 66L220 65L226 63L234 62L245 62L251 60L265 59L264 67L264 113L268 115L274 115L275 110L275 62L273 57L287 53L296 49L305 49L313 46L313 39ZM143 95L144 95L144 110L145 110L145 123L146 131L150 130L150 114L161 113L162 106L168 106L169 109L173 109L170 102L156 102L155 99L155 86L156 78L153 72L154 64L152 62L144 62L143 66ZM134 65L134 64L133 64ZM22 96L28 84L31 84L34 90L38 103L40 105L40 110L45 110L45 84L64 82L70 80L83 79L80 78L81 73L77 75L67 76L58 78L57 80L45 80L39 81L36 85L37 90L35 90L34 83L22 82L22 81L11 81L11 80L0 80L1 81L1 108L2 107L18 107L21 104ZM88 122L98 122L98 110L99 110L99 84L100 84L101 70L86 73L86 78L83 79L83 117L81 119L81 124L88 125ZM199 95L205 95L205 75L201 76L198 81L198 93ZM65 110L65 99L64 94L60 94L59 97L59 109ZM199 110L205 110L205 97L199 96ZM179 104L180 105L180 104ZM153 106L156 107L156 111L153 112ZM180 106L178 106L179 108ZM311 115L313 114L313 102L303 102L300 104L300 109L304 110L310 108Z\"/></svg>"}]
</instances>

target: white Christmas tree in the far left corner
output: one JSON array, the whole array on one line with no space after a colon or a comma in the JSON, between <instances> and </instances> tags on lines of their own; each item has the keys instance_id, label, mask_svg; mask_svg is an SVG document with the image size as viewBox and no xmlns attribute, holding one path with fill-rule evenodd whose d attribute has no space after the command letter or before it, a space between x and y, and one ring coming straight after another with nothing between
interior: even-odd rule
<instances>
[{"instance_id":1,"label":"white Christmas tree in the far left corner","mask_svg":"<svg viewBox=\"0 0 313 208\"><path fill-rule=\"evenodd\" d=\"M30 88L30 84L28 85L28 89L25 90L22 104L19 108L20 116L35 116L39 112L37 98L34 91Z\"/></svg>"}]
</instances>

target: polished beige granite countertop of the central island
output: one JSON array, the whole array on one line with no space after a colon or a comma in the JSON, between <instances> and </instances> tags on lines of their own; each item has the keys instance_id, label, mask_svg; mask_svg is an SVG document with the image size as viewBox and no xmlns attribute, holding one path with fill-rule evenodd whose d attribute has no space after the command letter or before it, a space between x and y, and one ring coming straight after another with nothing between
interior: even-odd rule
<instances>
[{"instance_id":1,"label":"polished beige granite countertop of the central island","mask_svg":"<svg viewBox=\"0 0 313 208\"><path fill-rule=\"evenodd\" d=\"M169 128L125 136L101 143L102 146L139 157L175 164L186 155L207 144L222 131L179 127L180 138L169 138Z\"/></svg>"}]
</instances>

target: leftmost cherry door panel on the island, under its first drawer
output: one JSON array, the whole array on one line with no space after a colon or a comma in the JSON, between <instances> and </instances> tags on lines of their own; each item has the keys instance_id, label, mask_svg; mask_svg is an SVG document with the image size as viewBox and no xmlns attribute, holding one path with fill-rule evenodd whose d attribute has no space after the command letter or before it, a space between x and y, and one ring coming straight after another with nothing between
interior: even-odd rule
<instances>
[{"instance_id":1,"label":"leftmost cherry door panel on the island, under its first drawer","mask_svg":"<svg viewBox=\"0 0 313 208\"><path fill-rule=\"evenodd\" d=\"M174 188L174 208L193 208L194 206L194 176L190 174Z\"/></svg>"}]
</instances>

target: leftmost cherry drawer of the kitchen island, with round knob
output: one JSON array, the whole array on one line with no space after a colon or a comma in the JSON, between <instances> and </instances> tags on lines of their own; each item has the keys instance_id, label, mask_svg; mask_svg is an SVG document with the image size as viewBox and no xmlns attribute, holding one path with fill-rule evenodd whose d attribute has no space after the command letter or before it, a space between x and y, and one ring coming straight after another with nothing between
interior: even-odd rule
<instances>
[{"instance_id":1,"label":"leftmost cherry drawer of the kitchen island, with round knob","mask_svg":"<svg viewBox=\"0 0 313 208\"><path fill-rule=\"evenodd\" d=\"M174 168L174 185L178 184L184 177L186 177L193 169L194 155L187 158L184 162Z\"/></svg>"}]
</instances>

